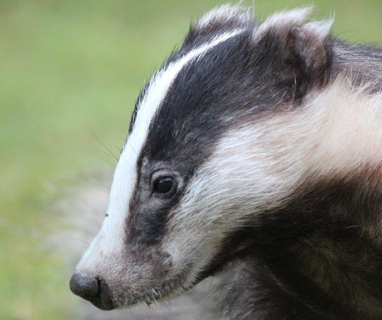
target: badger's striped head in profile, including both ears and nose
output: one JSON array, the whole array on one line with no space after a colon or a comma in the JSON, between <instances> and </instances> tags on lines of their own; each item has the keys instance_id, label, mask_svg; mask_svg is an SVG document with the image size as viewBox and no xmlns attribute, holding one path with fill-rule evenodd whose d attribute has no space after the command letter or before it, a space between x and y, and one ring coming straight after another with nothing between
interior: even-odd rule
<instances>
[{"instance_id":1,"label":"badger's striped head in profile, including both ears and nose","mask_svg":"<svg viewBox=\"0 0 382 320\"><path fill-rule=\"evenodd\" d=\"M106 310L151 303L251 247L258 217L304 175L310 146L295 109L330 73L330 23L305 23L309 11L256 24L223 6L191 28L138 98L75 294Z\"/></svg>"}]
</instances>

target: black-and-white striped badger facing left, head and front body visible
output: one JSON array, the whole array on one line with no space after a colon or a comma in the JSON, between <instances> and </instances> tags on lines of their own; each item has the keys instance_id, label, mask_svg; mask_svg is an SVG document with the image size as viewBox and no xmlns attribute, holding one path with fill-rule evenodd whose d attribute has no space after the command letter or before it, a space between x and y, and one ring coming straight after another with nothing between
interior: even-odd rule
<instances>
[{"instance_id":1,"label":"black-and-white striped badger facing left, head and front body visible","mask_svg":"<svg viewBox=\"0 0 382 320\"><path fill-rule=\"evenodd\" d=\"M382 318L382 52L223 5L144 86L70 280L102 310L222 269L231 319Z\"/></svg>"}]
</instances>

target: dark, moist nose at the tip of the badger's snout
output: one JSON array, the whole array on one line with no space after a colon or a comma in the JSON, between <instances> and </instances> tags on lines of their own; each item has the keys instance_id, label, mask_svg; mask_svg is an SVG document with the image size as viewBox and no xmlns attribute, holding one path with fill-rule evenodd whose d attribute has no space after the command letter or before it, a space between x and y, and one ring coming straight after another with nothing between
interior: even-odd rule
<instances>
[{"instance_id":1,"label":"dark, moist nose at the tip of the badger's snout","mask_svg":"<svg viewBox=\"0 0 382 320\"><path fill-rule=\"evenodd\" d=\"M101 310L115 308L106 282L90 273L84 271L74 273L70 278L69 287L71 292L90 301Z\"/></svg>"}]
</instances>

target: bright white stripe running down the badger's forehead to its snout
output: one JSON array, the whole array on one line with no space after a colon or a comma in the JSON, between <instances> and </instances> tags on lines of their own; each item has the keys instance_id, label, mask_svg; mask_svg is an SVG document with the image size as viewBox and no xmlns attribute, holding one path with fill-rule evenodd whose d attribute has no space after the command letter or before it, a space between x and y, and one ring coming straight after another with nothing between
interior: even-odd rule
<instances>
[{"instance_id":1,"label":"bright white stripe running down the badger's forehead to its snout","mask_svg":"<svg viewBox=\"0 0 382 320\"><path fill-rule=\"evenodd\" d=\"M194 48L179 60L172 62L163 68L163 70L160 70L157 75L152 78L147 93L138 106L133 129L115 168L107 209L108 217L104 220L100 232L84 254L77 269L91 268L94 266L99 260L97 257L100 258L100 252L103 252L103 254L117 254L123 250L125 219L128 215L129 201L133 195L138 175L136 171L138 155L145 142L150 123L173 80L176 78L176 75L178 75L186 64L203 56L203 54L214 46L236 36L242 31L243 29L234 29L233 31L215 36L210 42ZM97 249L95 250L94 247L97 247Z\"/></svg>"}]
</instances>

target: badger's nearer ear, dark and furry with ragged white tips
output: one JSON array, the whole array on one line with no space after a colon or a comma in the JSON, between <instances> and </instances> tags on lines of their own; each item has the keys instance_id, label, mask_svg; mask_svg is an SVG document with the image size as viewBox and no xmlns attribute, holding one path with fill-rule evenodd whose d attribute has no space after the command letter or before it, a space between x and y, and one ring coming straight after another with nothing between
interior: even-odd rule
<instances>
[{"instance_id":1,"label":"badger's nearer ear, dark and furry with ragged white tips","mask_svg":"<svg viewBox=\"0 0 382 320\"><path fill-rule=\"evenodd\" d=\"M283 85L295 100L311 88L319 88L330 79L333 60L333 19L306 22L312 7L277 13L254 31L257 42L275 41L275 65ZM281 62L281 63L280 63Z\"/></svg>"}]
</instances>

